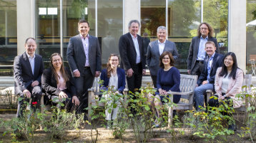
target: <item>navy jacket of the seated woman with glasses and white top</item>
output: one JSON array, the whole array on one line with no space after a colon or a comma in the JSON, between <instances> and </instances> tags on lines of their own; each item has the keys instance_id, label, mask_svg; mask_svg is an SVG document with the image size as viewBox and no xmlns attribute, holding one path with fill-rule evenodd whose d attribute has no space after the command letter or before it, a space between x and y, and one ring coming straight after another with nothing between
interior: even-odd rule
<instances>
[{"instance_id":1,"label":"navy jacket of the seated woman with glasses and white top","mask_svg":"<svg viewBox=\"0 0 256 143\"><path fill-rule=\"evenodd\" d=\"M118 91L123 92L125 88L125 72L121 68L117 68L117 76L118 76ZM107 90L109 86L109 78L107 78L107 69L102 70L102 74L100 75L100 80L103 80L102 89Z\"/></svg>"}]
</instances>

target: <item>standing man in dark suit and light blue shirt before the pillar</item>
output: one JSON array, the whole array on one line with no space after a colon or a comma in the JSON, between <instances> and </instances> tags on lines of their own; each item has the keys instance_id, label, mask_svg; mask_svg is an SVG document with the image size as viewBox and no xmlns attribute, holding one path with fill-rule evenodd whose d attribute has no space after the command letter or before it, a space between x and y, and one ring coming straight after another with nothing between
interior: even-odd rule
<instances>
[{"instance_id":1,"label":"standing man in dark suit and light blue shirt before the pillar","mask_svg":"<svg viewBox=\"0 0 256 143\"><path fill-rule=\"evenodd\" d=\"M134 92L142 86L142 74L146 73L142 37L137 33L140 23L137 20L129 22L129 33L119 38L119 53L121 68L127 73L129 91Z\"/></svg>"}]
</instances>

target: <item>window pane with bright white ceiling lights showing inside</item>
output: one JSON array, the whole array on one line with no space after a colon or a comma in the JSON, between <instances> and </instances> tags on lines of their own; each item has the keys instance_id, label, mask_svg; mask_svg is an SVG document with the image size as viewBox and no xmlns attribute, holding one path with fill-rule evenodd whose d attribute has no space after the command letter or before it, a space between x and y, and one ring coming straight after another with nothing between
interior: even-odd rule
<instances>
[{"instance_id":1,"label":"window pane with bright white ceiling lights showing inside","mask_svg":"<svg viewBox=\"0 0 256 143\"><path fill-rule=\"evenodd\" d=\"M36 0L36 43L44 61L49 61L52 53L60 52L59 21L59 0Z\"/></svg>"}]
</instances>

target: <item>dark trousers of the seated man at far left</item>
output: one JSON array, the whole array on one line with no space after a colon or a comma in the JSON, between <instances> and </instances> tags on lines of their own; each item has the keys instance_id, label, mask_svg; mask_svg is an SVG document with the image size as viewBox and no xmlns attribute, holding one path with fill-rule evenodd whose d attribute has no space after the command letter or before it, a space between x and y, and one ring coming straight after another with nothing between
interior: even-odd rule
<instances>
[{"instance_id":1,"label":"dark trousers of the seated man at far left","mask_svg":"<svg viewBox=\"0 0 256 143\"><path fill-rule=\"evenodd\" d=\"M37 85L35 87L31 87L31 85L29 85L27 88L27 90L29 90L29 92L31 93L31 110L32 112L35 112L36 109L40 108L40 100L41 100L41 86ZM18 102L18 108L17 108L17 113L16 113L16 117L22 117L23 116L23 112L26 109L26 104L25 102L29 102L29 98L27 98L22 92L19 93L19 97L22 97L22 100L20 100ZM32 102L37 102L36 105L32 105Z\"/></svg>"}]
</instances>

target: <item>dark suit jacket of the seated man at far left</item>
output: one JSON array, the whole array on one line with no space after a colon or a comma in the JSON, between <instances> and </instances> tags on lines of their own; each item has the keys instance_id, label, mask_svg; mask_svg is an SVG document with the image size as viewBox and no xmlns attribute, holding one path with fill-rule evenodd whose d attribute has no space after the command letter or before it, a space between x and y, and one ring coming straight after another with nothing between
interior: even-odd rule
<instances>
[{"instance_id":1,"label":"dark suit jacket of the seated man at far left","mask_svg":"<svg viewBox=\"0 0 256 143\"><path fill-rule=\"evenodd\" d=\"M31 65L29 63L29 58L26 53L17 55L14 58L14 88L15 95L18 95L26 90L26 88L31 85L35 80L39 81L41 84L41 74L44 70L44 63L41 55L35 54L34 58L34 75L32 73Z\"/></svg>"}]
</instances>

